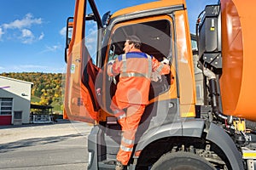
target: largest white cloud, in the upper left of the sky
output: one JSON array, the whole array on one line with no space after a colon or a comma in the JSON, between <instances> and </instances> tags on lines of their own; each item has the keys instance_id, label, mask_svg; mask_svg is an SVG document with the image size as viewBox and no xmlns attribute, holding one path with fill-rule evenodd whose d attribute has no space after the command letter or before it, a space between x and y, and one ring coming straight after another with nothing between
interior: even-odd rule
<instances>
[{"instance_id":1,"label":"largest white cloud, in the upper left of the sky","mask_svg":"<svg viewBox=\"0 0 256 170\"><path fill-rule=\"evenodd\" d=\"M9 24L3 24L5 29L22 29L29 28L32 25L41 25L43 23L41 18L34 18L32 14L26 14L22 20L15 20Z\"/></svg>"}]
</instances>

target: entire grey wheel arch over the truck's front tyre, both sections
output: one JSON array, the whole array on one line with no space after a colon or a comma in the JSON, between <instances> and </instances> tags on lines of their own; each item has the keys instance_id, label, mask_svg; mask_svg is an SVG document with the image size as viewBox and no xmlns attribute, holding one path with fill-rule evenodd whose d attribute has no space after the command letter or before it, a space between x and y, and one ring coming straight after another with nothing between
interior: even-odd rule
<instances>
[{"instance_id":1,"label":"entire grey wheel arch over the truck's front tyre, both sections","mask_svg":"<svg viewBox=\"0 0 256 170\"><path fill-rule=\"evenodd\" d=\"M150 132L143 135L137 144L133 158L135 164L139 160L140 156L137 156L137 152L143 152L143 150L150 150L149 148L157 144L165 144L172 142L177 139L188 139L188 140L201 140L206 139L212 144L218 146L218 148L226 156L228 163L232 169L243 169L241 153L237 150L236 144L230 138L230 136L224 132L224 129L211 123L208 131L205 130L205 122L203 120L191 120L186 122L173 122L172 126L164 125L162 127L154 128ZM204 136L204 137L203 137ZM190 142L190 141L189 141ZM163 146L162 146L163 147ZM166 152L170 151L170 148L166 148ZM171 149L172 150L172 149ZM159 158L159 156L156 156ZM158 159L156 158L156 159Z\"/></svg>"}]
</instances>

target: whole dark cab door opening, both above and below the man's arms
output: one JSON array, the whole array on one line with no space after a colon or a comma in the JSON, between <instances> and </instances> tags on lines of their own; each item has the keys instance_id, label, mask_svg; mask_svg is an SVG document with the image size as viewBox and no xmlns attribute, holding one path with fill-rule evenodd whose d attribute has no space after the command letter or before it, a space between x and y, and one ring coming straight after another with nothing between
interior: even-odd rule
<instances>
[{"instance_id":1,"label":"whole dark cab door opening, both above and below the man's arms","mask_svg":"<svg viewBox=\"0 0 256 170\"><path fill-rule=\"evenodd\" d=\"M133 22L134 23L134 22ZM111 47L108 52L108 59L113 59L119 54L123 54L125 37L136 35L141 39L141 50L153 55L154 58L161 61L164 57L172 61L172 23L170 20L154 20L119 26L113 30L111 37ZM111 79L109 79L112 81ZM118 79L117 79L118 80ZM170 75L162 76L160 82L152 82L152 92L149 99L165 92L171 85ZM114 86L111 88L115 89ZM114 90L110 90L114 94Z\"/></svg>"}]
</instances>

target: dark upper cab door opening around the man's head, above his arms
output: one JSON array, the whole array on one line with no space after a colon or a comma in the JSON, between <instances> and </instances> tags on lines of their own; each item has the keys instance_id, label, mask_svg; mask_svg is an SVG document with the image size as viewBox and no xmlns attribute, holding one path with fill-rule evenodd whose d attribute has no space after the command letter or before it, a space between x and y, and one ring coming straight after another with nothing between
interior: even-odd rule
<instances>
[{"instance_id":1,"label":"dark upper cab door opening around the man's head, above his arms","mask_svg":"<svg viewBox=\"0 0 256 170\"><path fill-rule=\"evenodd\" d=\"M112 36L112 47L109 56L114 54L123 54L125 37L128 35L137 35L143 43L142 51L153 55L161 60L163 57L172 57L171 53L171 23L169 20L154 20L140 24L121 26L114 30Z\"/></svg>"}]
</instances>

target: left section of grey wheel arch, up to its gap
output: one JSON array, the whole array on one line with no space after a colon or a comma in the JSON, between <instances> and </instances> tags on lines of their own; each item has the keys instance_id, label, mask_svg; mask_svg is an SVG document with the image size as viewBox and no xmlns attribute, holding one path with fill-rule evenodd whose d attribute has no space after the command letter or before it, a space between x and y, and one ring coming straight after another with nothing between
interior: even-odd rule
<instances>
[{"instance_id":1,"label":"left section of grey wheel arch, up to its gap","mask_svg":"<svg viewBox=\"0 0 256 170\"><path fill-rule=\"evenodd\" d=\"M133 166L136 166L137 163L140 165L150 165L151 162L157 161L161 154L165 154L172 150L172 147L170 147L170 143L172 143L172 141L184 139L188 134L190 134L189 137L193 137L194 139L201 139L203 129L204 121L195 119L190 121L172 122L172 124L152 128L147 133L144 133L139 139L133 153ZM150 148L152 147L154 149L160 147L160 150L151 150ZM154 153L152 153L152 151ZM140 153L140 155L137 156L137 153ZM148 156L148 154L150 156ZM144 161L148 162L142 162L144 156L147 156L147 159Z\"/></svg>"}]
</instances>

